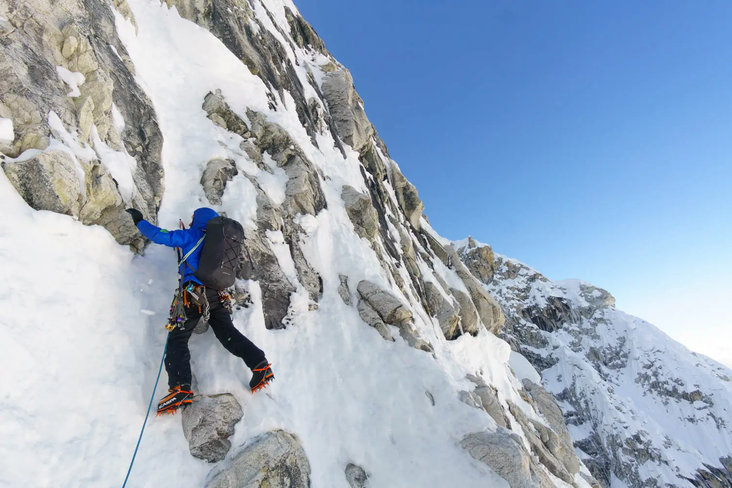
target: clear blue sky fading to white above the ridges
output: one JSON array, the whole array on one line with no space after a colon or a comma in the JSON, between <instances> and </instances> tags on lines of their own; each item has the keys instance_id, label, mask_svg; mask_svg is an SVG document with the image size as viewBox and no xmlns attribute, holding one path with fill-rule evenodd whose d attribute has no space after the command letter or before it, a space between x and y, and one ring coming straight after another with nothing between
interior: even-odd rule
<instances>
[{"instance_id":1,"label":"clear blue sky fading to white above the ridges","mask_svg":"<svg viewBox=\"0 0 732 488\"><path fill-rule=\"evenodd\" d=\"M732 1L296 4L441 235L732 366Z\"/></svg>"}]
</instances>

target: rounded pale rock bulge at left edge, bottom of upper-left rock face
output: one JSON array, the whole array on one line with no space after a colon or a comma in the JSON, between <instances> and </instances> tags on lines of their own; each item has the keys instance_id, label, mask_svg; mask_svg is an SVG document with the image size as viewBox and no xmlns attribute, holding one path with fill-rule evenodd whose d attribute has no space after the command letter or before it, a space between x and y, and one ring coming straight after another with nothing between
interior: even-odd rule
<instances>
[{"instance_id":1,"label":"rounded pale rock bulge at left edge, bottom of upper-left rock face","mask_svg":"<svg viewBox=\"0 0 732 488\"><path fill-rule=\"evenodd\" d=\"M66 151L44 151L28 161L6 162L3 169L34 209L78 216L79 176L73 157Z\"/></svg>"}]
</instances>

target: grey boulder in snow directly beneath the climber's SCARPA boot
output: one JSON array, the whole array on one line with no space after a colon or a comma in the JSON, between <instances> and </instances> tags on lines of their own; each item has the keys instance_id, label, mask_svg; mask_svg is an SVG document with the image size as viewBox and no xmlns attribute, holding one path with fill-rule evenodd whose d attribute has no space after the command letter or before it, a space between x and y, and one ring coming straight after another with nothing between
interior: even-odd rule
<instances>
[{"instance_id":1,"label":"grey boulder in snow directly beneath the climber's SCARPA boot","mask_svg":"<svg viewBox=\"0 0 732 488\"><path fill-rule=\"evenodd\" d=\"M182 415L190 454L208 462L224 459L231 448L228 438L243 415L242 405L230 393L194 397Z\"/></svg>"}]
</instances>

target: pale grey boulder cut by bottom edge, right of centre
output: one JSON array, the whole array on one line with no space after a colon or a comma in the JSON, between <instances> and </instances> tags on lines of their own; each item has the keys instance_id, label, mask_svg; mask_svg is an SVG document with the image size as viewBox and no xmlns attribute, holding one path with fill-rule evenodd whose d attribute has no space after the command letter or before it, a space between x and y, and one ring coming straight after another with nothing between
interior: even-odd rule
<instances>
[{"instance_id":1,"label":"pale grey boulder cut by bottom edge, right of centre","mask_svg":"<svg viewBox=\"0 0 732 488\"><path fill-rule=\"evenodd\" d=\"M466 435L463 446L475 459L488 465L511 488L553 488L550 478L533 462L518 435L505 429Z\"/></svg>"}]
</instances>

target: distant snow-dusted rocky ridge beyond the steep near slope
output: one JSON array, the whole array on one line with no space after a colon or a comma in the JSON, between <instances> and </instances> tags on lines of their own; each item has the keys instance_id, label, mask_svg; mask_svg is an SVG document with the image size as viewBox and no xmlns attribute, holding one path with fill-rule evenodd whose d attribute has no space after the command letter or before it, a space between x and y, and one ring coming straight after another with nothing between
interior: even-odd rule
<instances>
[{"instance_id":1,"label":"distant snow-dusted rocky ridge beyond the steep near slope","mask_svg":"<svg viewBox=\"0 0 732 488\"><path fill-rule=\"evenodd\" d=\"M729 486L730 369L616 310L605 290L551 281L473 239L455 244L506 314L501 337L560 400L580 459L598 480Z\"/></svg>"}]
</instances>

